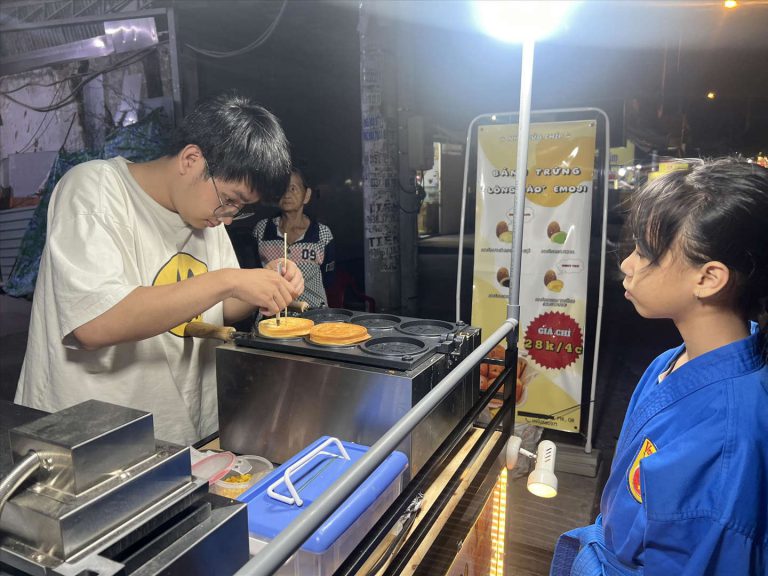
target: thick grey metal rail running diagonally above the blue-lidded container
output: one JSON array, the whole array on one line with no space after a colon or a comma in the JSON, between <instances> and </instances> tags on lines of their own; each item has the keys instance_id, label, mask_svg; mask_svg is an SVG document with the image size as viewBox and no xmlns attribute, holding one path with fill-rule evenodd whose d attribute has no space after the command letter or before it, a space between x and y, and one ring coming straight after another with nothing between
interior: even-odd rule
<instances>
[{"instance_id":1,"label":"thick grey metal rail running diagonally above the blue-lidded container","mask_svg":"<svg viewBox=\"0 0 768 576\"><path fill-rule=\"evenodd\" d=\"M259 554L238 572L240 576L267 576L277 571L315 530L389 456L408 434L453 390L517 323L507 319L491 336L443 378L358 460L349 471L326 490L312 506L291 522Z\"/></svg>"}]
</instances>

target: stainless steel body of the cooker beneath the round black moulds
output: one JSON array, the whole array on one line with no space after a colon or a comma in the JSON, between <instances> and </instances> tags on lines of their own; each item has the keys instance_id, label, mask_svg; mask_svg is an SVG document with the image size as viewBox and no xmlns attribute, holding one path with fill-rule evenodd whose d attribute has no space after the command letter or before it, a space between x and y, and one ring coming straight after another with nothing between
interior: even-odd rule
<instances>
[{"instance_id":1,"label":"stainless steel body of the cooker beneath the round black moulds","mask_svg":"<svg viewBox=\"0 0 768 576\"><path fill-rule=\"evenodd\" d=\"M324 435L372 445L479 343L390 370L224 344L216 351L221 447L282 463ZM398 448L418 472L478 397L470 373Z\"/></svg>"}]
</instances>

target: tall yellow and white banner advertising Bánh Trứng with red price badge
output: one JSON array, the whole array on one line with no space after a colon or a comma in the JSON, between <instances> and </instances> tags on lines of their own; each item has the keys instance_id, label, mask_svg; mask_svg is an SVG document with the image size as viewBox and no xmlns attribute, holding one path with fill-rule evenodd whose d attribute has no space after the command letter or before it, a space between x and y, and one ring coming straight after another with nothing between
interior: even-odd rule
<instances>
[{"instance_id":1,"label":"tall yellow and white banner advertising B\u00e1nh Tr\u1ee9ng with red price badge","mask_svg":"<svg viewBox=\"0 0 768 576\"><path fill-rule=\"evenodd\" d=\"M596 124L531 124L516 423L579 431ZM516 124L478 127L472 325L484 336L506 318L517 130ZM498 370L483 369L481 387Z\"/></svg>"}]
</instances>

